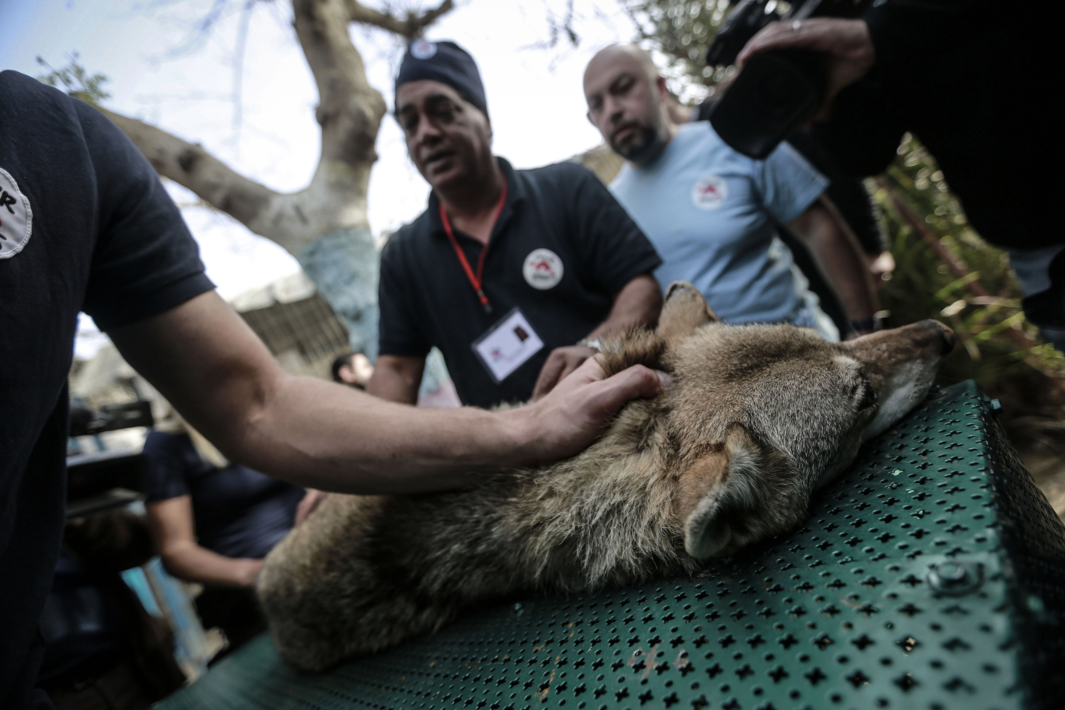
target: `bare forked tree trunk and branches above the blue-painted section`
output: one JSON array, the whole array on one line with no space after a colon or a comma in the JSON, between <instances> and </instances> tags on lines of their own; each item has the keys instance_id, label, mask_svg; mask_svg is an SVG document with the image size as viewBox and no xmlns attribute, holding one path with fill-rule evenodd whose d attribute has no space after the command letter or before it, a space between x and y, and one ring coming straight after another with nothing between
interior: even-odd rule
<instances>
[{"instance_id":1,"label":"bare forked tree trunk and branches above the blue-painted section","mask_svg":"<svg viewBox=\"0 0 1065 710\"><path fill-rule=\"evenodd\" d=\"M443 0L406 20L371 10L358 0L293 0L296 36L318 87L315 117L322 154L310 184L281 194L249 180L194 145L128 116L104 111L155 170L196 193L212 207L293 254L338 229L366 228L370 169L386 103L370 85L362 56L351 44L349 22L416 36L453 7Z\"/></svg>"}]
</instances>

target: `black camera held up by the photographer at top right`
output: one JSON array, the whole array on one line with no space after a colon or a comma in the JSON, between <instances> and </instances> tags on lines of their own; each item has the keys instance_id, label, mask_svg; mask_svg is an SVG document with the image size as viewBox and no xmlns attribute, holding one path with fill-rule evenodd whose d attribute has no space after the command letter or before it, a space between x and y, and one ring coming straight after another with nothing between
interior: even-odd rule
<instances>
[{"instance_id":1,"label":"black camera held up by the photographer at top right","mask_svg":"<svg viewBox=\"0 0 1065 710\"><path fill-rule=\"evenodd\" d=\"M761 28L774 20L856 17L868 0L800 0L784 15L774 0L743 0L706 52L708 64L735 64ZM710 111L721 139L736 151L765 160L791 131L809 120L824 99L823 56L807 49L773 49L751 56Z\"/></svg>"}]
</instances>

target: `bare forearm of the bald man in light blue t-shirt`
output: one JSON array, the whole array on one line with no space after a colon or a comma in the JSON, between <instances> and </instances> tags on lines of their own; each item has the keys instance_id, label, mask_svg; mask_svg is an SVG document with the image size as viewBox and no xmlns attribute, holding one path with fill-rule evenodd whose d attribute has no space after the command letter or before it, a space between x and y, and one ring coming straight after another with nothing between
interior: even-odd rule
<instances>
[{"instance_id":1,"label":"bare forearm of the bald man in light blue t-shirt","mask_svg":"<svg viewBox=\"0 0 1065 710\"><path fill-rule=\"evenodd\" d=\"M815 203L789 227L809 247L814 261L839 296L847 318L865 320L878 310L869 270L857 238L830 205Z\"/></svg>"}]
</instances>

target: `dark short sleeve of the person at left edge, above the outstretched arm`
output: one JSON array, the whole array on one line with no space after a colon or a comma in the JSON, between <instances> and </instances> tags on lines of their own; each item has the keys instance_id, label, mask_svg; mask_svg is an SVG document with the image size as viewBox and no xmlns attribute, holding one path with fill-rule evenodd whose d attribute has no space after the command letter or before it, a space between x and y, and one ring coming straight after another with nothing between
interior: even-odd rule
<instances>
[{"instance_id":1,"label":"dark short sleeve of the person at left edge, above the outstretched arm","mask_svg":"<svg viewBox=\"0 0 1065 710\"><path fill-rule=\"evenodd\" d=\"M99 221L82 310L110 330L214 288L151 164L103 114L75 103L96 172Z\"/></svg>"}]
</instances>

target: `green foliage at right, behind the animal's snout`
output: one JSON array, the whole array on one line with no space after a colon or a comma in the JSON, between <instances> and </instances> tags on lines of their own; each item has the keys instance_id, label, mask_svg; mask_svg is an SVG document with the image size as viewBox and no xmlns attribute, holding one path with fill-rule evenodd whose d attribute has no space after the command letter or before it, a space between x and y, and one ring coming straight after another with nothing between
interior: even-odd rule
<instances>
[{"instance_id":1,"label":"green foliage at right, behind the animal's snout","mask_svg":"<svg viewBox=\"0 0 1065 710\"><path fill-rule=\"evenodd\" d=\"M1018 400L1027 413L1048 412L1061 397L1056 380L1065 374L1065 357L1043 343L1025 319L1006 254L969 226L935 159L915 137L905 135L898 152L872 185L896 260L881 294L890 311L888 325L922 318L947 323L960 347L940 369L941 381L971 378L988 392ZM916 216L923 233L904 211ZM1011 390L1026 396L1011 396Z\"/></svg>"}]
</instances>

